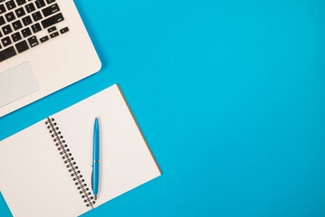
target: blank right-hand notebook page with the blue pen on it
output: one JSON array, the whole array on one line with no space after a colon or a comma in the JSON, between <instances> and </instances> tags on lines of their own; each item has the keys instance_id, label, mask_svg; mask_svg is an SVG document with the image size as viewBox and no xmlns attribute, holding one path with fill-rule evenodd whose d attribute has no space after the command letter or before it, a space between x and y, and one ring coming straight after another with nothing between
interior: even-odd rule
<instances>
[{"instance_id":1,"label":"blank right-hand notebook page with the blue pen on it","mask_svg":"<svg viewBox=\"0 0 325 217\"><path fill-rule=\"evenodd\" d=\"M100 191L95 206L99 206L157 177L160 171L118 85L113 85L51 117L88 185L96 116L100 120Z\"/></svg>"}]
</instances>

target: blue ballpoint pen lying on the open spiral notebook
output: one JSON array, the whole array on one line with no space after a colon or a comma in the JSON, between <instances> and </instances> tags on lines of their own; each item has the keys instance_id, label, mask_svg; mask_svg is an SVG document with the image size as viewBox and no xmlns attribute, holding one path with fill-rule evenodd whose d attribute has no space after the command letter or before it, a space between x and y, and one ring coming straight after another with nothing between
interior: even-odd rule
<instances>
[{"instance_id":1,"label":"blue ballpoint pen lying on the open spiral notebook","mask_svg":"<svg viewBox=\"0 0 325 217\"><path fill-rule=\"evenodd\" d=\"M97 194L100 182L100 126L98 118L95 119L93 127L93 156L92 156L92 174L91 174L91 188L97 200Z\"/></svg>"}]
</instances>

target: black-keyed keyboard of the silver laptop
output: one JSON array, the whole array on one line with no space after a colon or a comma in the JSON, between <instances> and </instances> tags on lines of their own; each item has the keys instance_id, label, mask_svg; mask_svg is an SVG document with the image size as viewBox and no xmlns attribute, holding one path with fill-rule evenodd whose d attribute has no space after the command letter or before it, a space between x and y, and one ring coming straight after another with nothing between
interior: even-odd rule
<instances>
[{"instance_id":1,"label":"black-keyed keyboard of the silver laptop","mask_svg":"<svg viewBox=\"0 0 325 217\"><path fill-rule=\"evenodd\" d=\"M0 0L0 62L69 32L62 21L56 0Z\"/></svg>"}]
</instances>

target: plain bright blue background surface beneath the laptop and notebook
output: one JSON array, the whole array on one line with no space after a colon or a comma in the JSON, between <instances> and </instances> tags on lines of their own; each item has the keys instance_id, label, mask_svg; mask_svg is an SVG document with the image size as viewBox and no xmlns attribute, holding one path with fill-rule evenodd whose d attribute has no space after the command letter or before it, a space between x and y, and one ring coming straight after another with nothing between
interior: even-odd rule
<instances>
[{"instance_id":1,"label":"plain bright blue background surface beneath the laptop and notebook","mask_svg":"<svg viewBox=\"0 0 325 217\"><path fill-rule=\"evenodd\" d=\"M119 83L163 172L83 217L325 216L324 1L76 5L102 70L0 139Z\"/></svg>"}]
</instances>

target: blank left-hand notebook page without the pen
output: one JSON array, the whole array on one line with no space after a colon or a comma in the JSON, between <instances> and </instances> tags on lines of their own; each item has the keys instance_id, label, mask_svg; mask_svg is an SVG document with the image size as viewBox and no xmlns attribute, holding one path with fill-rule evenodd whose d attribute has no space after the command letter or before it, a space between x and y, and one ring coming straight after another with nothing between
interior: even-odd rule
<instances>
[{"instance_id":1,"label":"blank left-hand notebook page without the pen","mask_svg":"<svg viewBox=\"0 0 325 217\"><path fill-rule=\"evenodd\" d=\"M0 142L0 191L14 216L87 212L45 120Z\"/></svg>"}]
</instances>

